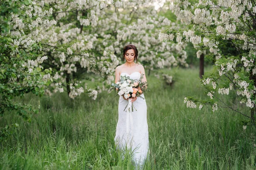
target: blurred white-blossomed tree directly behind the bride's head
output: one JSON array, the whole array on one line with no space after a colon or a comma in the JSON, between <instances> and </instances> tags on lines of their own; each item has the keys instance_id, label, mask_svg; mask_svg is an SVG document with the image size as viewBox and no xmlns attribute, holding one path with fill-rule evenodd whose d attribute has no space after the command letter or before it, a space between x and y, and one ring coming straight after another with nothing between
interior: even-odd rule
<instances>
[{"instance_id":1,"label":"blurred white-blossomed tree directly behind the bride's head","mask_svg":"<svg viewBox=\"0 0 256 170\"><path fill-rule=\"evenodd\" d=\"M124 8L99 11L99 16L107 17L99 20L99 25L94 29L102 37L96 48L113 51L122 63L122 48L132 43L139 49L139 62L148 71L172 65L187 67L186 51L177 51L174 43L157 40L159 31L170 26L171 21L158 16L153 2L131 0L125 2Z\"/></svg>"}]
</instances>

